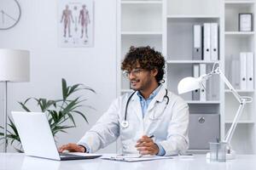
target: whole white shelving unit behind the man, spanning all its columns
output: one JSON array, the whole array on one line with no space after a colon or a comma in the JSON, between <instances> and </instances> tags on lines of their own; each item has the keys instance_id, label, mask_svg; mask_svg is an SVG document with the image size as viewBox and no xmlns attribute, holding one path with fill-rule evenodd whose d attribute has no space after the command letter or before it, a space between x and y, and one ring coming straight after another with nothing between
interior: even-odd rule
<instances>
[{"instance_id":1,"label":"whole white shelving unit behind the man, spanning all its columns","mask_svg":"<svg viewBox=\"0 0 256 170\"><path fill-rule=\"evenodd\" d=\"M183 77L192 77L192 68L195 64L206 64L207 72L217 62L222 71L232 79L230 64L239 64L240 52L251 51L255 54L255 31L238 31L238 14L253 13L253 0L119 0L118 1L118 74L117 94L129 93L129 81L121 75L120 63L130 46L150 46L160 51L166 58L165 87L177 94L177 83ZM193 26L203 23L218 23L219 52L217 61L193 60ZM253 22L255 23L255 22ZM255 27L255 26L253 26ZM254 59L255 62L255 59ZM254 74L255 75L255 74ZM236 75L237 77L237 75ZM225 89L224 82L216 76L214 85L217 93L211 96L207 84L207 100L192 100L192 93L182 94L189 104L190 114L216 114L220 117L219 137L224 135L230 127L236 114L238 103L230 90ZM239 90L238 93L248 95L256 100L253 90ZM216 90L216 89L215 89ZM248 104L236 127L232 146L238 153L256 153L255 146L255 102ZM246 137L248 140L242 138ZM254 142L254 143L253 143ZM242 144L252 146L244 147ZM205 152L205 149L193 149L192 152Z\"/></svg>"}]
</instances>

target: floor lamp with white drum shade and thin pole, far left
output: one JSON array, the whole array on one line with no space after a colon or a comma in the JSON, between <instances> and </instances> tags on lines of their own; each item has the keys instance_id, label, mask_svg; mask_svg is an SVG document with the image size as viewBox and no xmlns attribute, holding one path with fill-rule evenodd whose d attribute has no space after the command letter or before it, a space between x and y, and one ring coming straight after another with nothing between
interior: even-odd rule
<instances>
[{"instance_id":1,"label":"floor lamp with white drum shade and thin pole, far left","mask_svg":"<svg viewBox=\"0 0 256 170\"><path fill-rule=\"evenodd\" d=\"M26 50L0 48L0 82L4 82L3 151L7 151L7 85L8 82L29 82L30 53Z\"/></svg>"}]
</instances>

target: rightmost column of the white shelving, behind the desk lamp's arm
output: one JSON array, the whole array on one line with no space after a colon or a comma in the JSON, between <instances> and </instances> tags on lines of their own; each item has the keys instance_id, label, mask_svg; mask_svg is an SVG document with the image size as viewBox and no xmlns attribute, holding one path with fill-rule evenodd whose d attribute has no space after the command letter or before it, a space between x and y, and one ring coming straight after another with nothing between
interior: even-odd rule
<instances>
[{"instance_id":1,"label":"rightmost column of the white shelving, behind the desk lamp's arm","mask_svg":"<svg viewBox=\"0 0 256 170\"><path fill-rule=\"evenodd\" d=\"M255 14L255 1L224 1L224 54L225 75L241 96L253 97L253 103L247 104L241 114L241 119L236 127L231 144L236 152L241 154L255 153L255 93L253 90L241 90L240 77L240 53L253 52L255 65L255 31L238 31L239 13L252 13L253 23ZM253 26L255 28L255 25ZM255 70L255 69L254 69ZM255 71L254 71L255 75ZM254 76L255 77L255 76ZM254 81L255 85L255 81ZM224 90L225 132L233 122L239 103L230 90Z\"/></svg>"}]
</instances>

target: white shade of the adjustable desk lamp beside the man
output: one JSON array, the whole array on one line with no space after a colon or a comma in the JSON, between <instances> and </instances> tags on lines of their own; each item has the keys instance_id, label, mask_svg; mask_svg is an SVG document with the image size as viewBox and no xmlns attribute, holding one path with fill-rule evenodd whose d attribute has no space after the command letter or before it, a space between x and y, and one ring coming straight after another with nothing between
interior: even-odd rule
<instances>
[{"instance_id":1,"label":"white shade of the adjustable desk lamp beside the man","mask_svg":"<svg viewBox=\"0 0 256 170\"><path fill-rule=\"evenodd\" d=\"M201 88L201 79L199 77L185 77L177 84L177 93L184 94L195 89Z\"/></svg>"}]
</instances>

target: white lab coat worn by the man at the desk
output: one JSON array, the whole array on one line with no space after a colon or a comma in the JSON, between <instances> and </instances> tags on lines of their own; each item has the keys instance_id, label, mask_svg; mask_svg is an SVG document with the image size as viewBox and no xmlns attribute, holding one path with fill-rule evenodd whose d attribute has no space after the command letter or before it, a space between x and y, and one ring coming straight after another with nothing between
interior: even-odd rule
<instances>
[{"instance_id":1,"label":"white lab coat worn by the man at the desk","mask_svg":"<svg viewBox=\"0 0 256 170\"><path fill-rule=\"evenodd\" d=\"M130 95L115 99L78 144L85 144L90 152L95 152L120 137L123 153L138 153L137 140L143 135L154 135L154 142L163 146L166 156L188 149L189 106L183 99L168 91L169 104L166 105L166 88L162 86L143 118L140 99L134 94L127 110L129 127L124 128L120 124L125 119L125 105Z\"/></svg>"}]
</instances>

